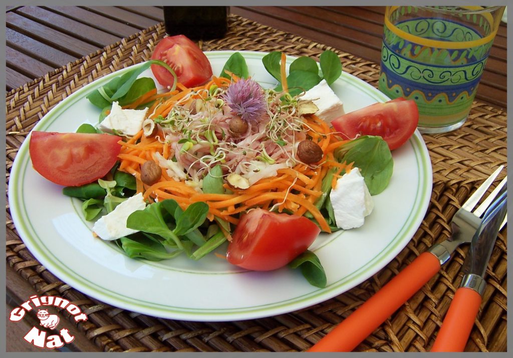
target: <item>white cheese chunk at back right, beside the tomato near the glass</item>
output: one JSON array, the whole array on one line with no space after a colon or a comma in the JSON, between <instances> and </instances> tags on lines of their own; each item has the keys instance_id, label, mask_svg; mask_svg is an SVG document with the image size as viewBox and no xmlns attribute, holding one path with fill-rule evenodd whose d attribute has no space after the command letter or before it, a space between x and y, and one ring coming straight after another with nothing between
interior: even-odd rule
<instances>
[{"instance_id":1,"label":"white cheese chunk at back right, beside the tomato near the glass","mask_svg":"<svg viewBox=\"0 0 513 358\"><path fill-rule=\"evenodd\" d=\"M325 122L330 122L344 114L344 104L329 87L325 79L305 92L301 100L310 100L319 108L315 115Z\"/></svg>"}]
</instances>

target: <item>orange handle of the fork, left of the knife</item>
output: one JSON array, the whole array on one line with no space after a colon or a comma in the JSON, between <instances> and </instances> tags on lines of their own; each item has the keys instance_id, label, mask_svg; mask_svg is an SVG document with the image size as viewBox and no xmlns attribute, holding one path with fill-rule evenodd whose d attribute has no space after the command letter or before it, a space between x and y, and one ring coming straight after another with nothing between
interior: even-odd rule
<instances>
[{"instance_id":1,"label":"orange handle of the fork, left of the knife","mask_svg":"<svg viewBox=\"0 0 513 358\"><path fill-rule=\"evenodd\" d=\"M308 351L352 351L439 270L437 256L422 253Z\"/></svg>"}]
</instances>

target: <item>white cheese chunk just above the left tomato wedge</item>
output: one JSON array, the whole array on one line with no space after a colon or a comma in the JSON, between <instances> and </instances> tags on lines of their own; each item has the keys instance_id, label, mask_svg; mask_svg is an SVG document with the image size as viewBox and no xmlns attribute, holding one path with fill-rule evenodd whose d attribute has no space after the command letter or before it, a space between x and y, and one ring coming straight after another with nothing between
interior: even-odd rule
<instances>
[{"instance_id":1,"label":"white cheese chunk just above the left tomato wedge","mask_svg":"<svg viewBox=\"0 0 513 358\"><path fill-rule=\"evenodd\" d=\"M122 109L119 103L113 102L108 116L100 123L98 128L107 133L114 131L126 135L135 135L143 128L148 109Z\"/></svg>"}]
</instances>

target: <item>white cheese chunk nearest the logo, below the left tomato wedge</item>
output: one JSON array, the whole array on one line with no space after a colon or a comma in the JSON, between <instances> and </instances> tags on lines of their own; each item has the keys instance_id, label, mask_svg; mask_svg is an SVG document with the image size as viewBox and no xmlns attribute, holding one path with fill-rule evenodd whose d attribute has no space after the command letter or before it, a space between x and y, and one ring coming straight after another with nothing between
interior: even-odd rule
<instances>
[{"instance_id":1,"label":"white cheese chunk nearest the logo, below the left tomato wedge","mask_svg":"<svg viewBox=\"0 0 513 358\"><path fill-rule=\"evenodd\" d=\"M94 223L93 232L103 240L116 240L116 238L133 234L137 230L127 228L127 218L134 211L143 210L145 207L143 193L136 194L116 206L107 215L100 217Z\"/></svg>"}]
</instances>

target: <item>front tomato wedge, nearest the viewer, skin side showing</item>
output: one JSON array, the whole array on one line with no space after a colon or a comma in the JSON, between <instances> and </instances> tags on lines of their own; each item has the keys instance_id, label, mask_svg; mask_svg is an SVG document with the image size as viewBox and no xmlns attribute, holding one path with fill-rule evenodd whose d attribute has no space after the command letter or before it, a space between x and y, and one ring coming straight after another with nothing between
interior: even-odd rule
<instances>
[{"instance_id":1,"label":"front tomato wedge, nearest the viewer, skin side showing","mask_svg":"<svg viewBox=\"0 0 513 358\"><path fill-rule=\"evenodd\" d=\"M226 257L230 264L248 270L274 270L304 252L319 232L304 216L253 209L235 228Z\"/></svg>"}]
</instances>

